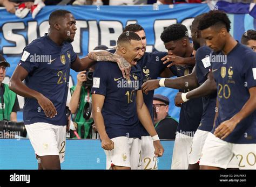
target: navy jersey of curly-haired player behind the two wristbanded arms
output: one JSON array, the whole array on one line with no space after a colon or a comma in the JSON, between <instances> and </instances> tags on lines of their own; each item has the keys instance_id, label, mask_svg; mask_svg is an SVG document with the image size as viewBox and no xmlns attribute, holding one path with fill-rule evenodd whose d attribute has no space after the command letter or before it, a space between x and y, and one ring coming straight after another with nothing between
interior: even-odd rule
<instances>
[{"instance_id":1,"label":"navy jersey of curly-haired player behind the two wristbanded arms","mask_svg":"<svg viewBox=\"0 0 256 187\"><path fill-rule=\"evenodd\" d=\"M174 75L181 77L192 72L194 66L171 66L170 69ZM180 92L188 92L189 89L179 90ZM190 99L181 105L179 114L179 124L177 131L186 133L188 136L193 136L201 121L203 114L202 98Z\"/></svg>"}]
</instances>

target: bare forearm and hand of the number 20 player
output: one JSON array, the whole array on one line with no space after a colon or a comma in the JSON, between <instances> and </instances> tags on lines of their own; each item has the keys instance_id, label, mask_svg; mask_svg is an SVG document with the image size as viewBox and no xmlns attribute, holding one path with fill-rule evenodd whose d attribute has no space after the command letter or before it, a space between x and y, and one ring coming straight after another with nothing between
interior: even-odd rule
<instances>
[{"instance_id":1,"label":"bare forearm and hand of the number 20 player","mask_svg":"<svg viewBox=\"0 0 256 187\"><path fill-rule=\"evenodd\" d=\"M231 119L223 121L214 131L214 135L220 139L225 139L241 120L248 117L256 110L256 87L249 89L250 98L247 100L242 109L235 114Z\"/></svg>"}]
</instances>

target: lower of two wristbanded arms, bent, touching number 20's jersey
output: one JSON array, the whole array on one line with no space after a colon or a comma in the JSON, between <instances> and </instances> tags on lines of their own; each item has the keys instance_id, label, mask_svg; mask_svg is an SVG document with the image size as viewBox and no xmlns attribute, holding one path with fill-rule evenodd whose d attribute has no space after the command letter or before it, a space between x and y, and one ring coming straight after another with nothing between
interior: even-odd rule
<instances>
[{"instance_id":1,"label":"lower of two wristbanded arms, bent, touching number 20's jersey","mask_svg":"<svg viewBox=\"0 0 256 187\"><path fill-rule=\"evenodd\" d=\"M209 72L207 74L207 80L200 85L200 87L193 89L189 91L186 95L187 99L194 99L194 98L199 98L202 96L207 96L211 95L212 93L215 93L217 91L217 85L213 77L213 73ZM181 103L184 103L182 98L181 98L181 92L178 92L176 97L175 97L175 105L176 106L181 106Z\"/></svg>"}]
</instances>

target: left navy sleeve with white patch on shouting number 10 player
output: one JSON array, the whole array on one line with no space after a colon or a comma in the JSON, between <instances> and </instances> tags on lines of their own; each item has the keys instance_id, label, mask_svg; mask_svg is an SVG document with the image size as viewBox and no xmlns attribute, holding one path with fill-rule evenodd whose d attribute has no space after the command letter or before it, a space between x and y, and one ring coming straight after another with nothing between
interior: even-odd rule
<instances>
[{"instance_id":1,"label":"left navy sleeve with white patch on shouting number 10 player","mask_svg":"<svg viewBox=\"0 0 256 187\"><path fill-rule=\"evenodd\" d=\"M100 94L106 96L107 90L107 63L98 62L95 65L95 71L93 72L93 84L91 93Z\"/></svg>"}]
</instances>

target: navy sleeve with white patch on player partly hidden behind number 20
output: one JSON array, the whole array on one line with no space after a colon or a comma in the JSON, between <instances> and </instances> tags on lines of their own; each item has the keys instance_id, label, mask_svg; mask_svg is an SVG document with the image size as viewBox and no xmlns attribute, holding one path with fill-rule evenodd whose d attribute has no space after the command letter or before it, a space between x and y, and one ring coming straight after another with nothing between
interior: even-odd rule
<instances>
[{"instance_id":1,"label":"navy sleeve with white patch on player partly hidden behind number 20","mask_svg":"<svg viewBox=\"0 0 256 187\"><path fill-rule=\"evenodd\" d=\"M197 50L197 54L196 54L197 69L200 69L200 71L203 73L205 78L212 69L211 61L210 61L210 53L211 53L210 48L200 47Z\"/></svg>"}]
</instances>

